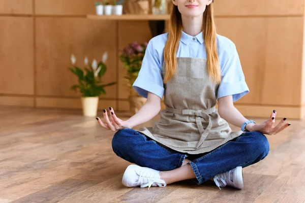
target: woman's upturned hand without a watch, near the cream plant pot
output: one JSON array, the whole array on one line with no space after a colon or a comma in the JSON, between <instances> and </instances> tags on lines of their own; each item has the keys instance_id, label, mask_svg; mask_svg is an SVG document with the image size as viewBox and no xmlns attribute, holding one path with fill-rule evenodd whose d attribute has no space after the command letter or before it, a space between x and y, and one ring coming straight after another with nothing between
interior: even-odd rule
<instances>
[{"instance_id":1,"label":"woman's upturned hand without a watch, near the cream plant pot","mask_svg":"<svg viewBox=\"0 0 305 203\"><path fill-rule=\"evenodd\" d=\"M111 107L109 107L110 120L108 118L107 111L104 109L103 112L104 112L104 118L105 118L106 122L103 123L99 117L97 117L96 119L98 120L99 124L102 127L106 128L107 130L116 131L116 130L121 130L121 129L125 129L125 128L132 128L127 121L117 118L114 113L114 110Z\"/></svg>"}]
</instances>

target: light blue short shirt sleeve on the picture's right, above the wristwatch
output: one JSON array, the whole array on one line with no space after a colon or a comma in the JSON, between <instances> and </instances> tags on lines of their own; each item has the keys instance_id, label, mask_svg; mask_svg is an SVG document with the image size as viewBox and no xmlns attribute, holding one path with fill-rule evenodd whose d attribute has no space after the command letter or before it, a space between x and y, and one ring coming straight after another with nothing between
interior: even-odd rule
<instances>
[{"instance_id":1,"label":"light blue short shirt sleeve on the picture's right, above the wristwatch","mask_svg":"<svg viewBox=\"0 0 305 203\"><path fill-rule=\"evenodd\" d=\"M220 61L222 81L218 88L217 99L232 95L234 102L246 95L249 92L249 88L241 69L236 47L233 43Z\"/></svg>"}]
</instances>

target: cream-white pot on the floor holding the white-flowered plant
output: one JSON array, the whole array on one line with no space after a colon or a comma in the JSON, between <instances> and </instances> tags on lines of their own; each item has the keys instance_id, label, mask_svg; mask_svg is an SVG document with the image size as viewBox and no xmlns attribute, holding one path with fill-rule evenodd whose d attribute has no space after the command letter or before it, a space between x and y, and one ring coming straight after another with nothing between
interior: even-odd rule
<instances>
[{"instance_id":1,"label":"cream-white pot on the floor holding the white-flowered plant","mask_svg":"<svg viewBox=\"0 0 305 203\"><path fill-rule=\"evenodd\" d=\"M96 117L98 112L99 97L81 97L83 115L86 117Z\"/></svg>"}]
</instances>

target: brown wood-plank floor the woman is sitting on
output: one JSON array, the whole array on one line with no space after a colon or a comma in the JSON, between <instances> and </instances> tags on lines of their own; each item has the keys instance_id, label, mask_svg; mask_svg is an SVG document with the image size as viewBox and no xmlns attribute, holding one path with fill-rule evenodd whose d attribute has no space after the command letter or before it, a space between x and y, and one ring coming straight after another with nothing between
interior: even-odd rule
<instances>
[{"instance_id":1,"label":"brown wood-plank floor the woman is sitting on","mask_svg":"<svg viewBox=\"0 0 305 203\"><path fill-rule=\"evenodd\" d=\"M288 120L292 125L284 132L267 136L269 155L243 168L243 190L219 190L212 181L197 185L187 180L148 191L147 187L127 188L121 184L130 163L114 154L113 132L100 127L95 118L84 118L75 110L0 107L0 203L303 203L305 121Z\"/></svg>"}]
</instances>

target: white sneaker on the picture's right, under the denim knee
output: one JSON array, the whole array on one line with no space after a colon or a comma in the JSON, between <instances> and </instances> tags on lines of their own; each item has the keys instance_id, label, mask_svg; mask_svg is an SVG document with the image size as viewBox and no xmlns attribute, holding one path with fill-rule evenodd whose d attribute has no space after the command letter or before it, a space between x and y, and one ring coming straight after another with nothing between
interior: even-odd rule
<instances>
[{"instance_id":1,"label":"white sneaker on the picture's right, under the denim knee","mask_svg":"<svg viewBox=\"0 0 305 203\"><path fill-rule=\"evenodd\" d=\"M243 188L243 176L242 176L242 167L237 166L236 168L222 173L222 174L217 174L214 177L214 182L216 185L219 187L225 187L226 185L235 187L237 189L242 189ZM221 190L221 189L220 189Z\"/></svg>"}]
</instances>

